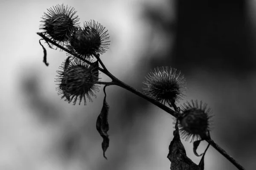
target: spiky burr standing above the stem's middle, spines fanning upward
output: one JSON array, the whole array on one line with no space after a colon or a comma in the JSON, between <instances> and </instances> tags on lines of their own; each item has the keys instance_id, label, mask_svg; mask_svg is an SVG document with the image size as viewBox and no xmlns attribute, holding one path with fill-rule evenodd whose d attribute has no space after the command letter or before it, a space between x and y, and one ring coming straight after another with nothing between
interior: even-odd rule
<instances>
[{"instance_id":1,"label":"spiky burr standing above the stem's middle, spines fanning upward","mask_svg":"<svg viewBox=\"0 0 256 170\"><path fill-rule=\"evenodd\" d=\"M154 68L143 82L144 92L164 105L178 102L184 96L186 80L180 71L171 67Z\"/></svg>"}]
</instances>

